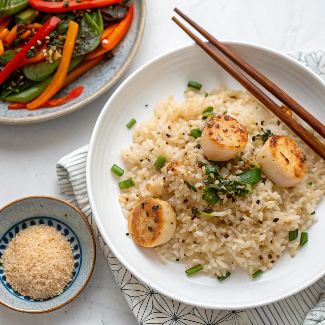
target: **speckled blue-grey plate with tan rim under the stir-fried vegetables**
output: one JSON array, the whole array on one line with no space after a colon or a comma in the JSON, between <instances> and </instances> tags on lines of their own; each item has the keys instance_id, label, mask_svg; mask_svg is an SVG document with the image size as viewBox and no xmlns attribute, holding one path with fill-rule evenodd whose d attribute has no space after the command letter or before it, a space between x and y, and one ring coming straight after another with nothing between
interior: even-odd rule
<instances>
[{"instance_id":1,"label":"speckled blue-grey plate with tan rim under the stir-fried vegetables","mask_svg":"<svg viewBox=\"0 0 325 325\"><path fill-rule=\"evenodd\" d=\"M75 87L86 86L78 98L61 106L37 110L8 110L9 102L0 99L0 123L28 124L51 120L78 110L110 89L132 62L144 30L146 0L131 0L128 5L131 3L134 6L133 20L123 40L114 47L114 58L109 61L103 60L58 93L58 97L62 97Z\"/></svg>"}]
</instances>

